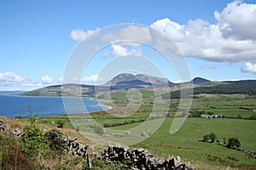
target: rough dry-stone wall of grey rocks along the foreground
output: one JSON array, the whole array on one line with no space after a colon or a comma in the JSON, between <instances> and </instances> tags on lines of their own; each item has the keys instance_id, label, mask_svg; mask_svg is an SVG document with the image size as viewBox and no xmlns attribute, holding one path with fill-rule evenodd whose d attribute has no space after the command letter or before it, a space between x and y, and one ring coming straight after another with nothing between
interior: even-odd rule
<instances>
[{"instance_id":1,"label":"rough dry-stone wall of grey rocks along the foreground","mask_svg":"<svg viewBox=\"0 0 256 170\"><path fill-rule=\"evenodd\" d=\"M0 120L0 131L11 133L15 136L22 136L20 128L10 129L2 120ZM161 160L154 157L148 150L133 149L120 145L109 145L105 150L95 151L93 146L85 145L79 142L76 138L67 137L64 139L65 151L73 156L82 156L89 162L90 159L99 159L111 161L113 164L122 164L125 169L186 169L194 170L195 167L189 163L182 163L180 156L168 157Z\"/></svg>"}]
</instances>

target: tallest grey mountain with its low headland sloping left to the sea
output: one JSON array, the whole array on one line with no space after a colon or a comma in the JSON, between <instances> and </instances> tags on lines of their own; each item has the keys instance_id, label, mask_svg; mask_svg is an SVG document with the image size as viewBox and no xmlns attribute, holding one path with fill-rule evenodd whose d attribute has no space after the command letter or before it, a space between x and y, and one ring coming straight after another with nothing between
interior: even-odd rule
<instances>
[{"instance_id":1,"label":"tallest grey mountain with its low headland sloping left to the sea","mask_svg":"<svg viewBox=\"0 0 256 170\"><path fill-rule=\"evenodd\" d=\"M156 86L163 85L165 83L172 83L166 78L152 77L148 75L132 75L132 74L120 74L113 77L109 82L102 86L84 85L84 84L65 84L49 86L46 88L39 88L22 95L24 96L91 96L97 92L106 92L109 89L113 90L127 90L131 88L148 88L152 87L152 84Z\"/></svg>"}]
</instances>

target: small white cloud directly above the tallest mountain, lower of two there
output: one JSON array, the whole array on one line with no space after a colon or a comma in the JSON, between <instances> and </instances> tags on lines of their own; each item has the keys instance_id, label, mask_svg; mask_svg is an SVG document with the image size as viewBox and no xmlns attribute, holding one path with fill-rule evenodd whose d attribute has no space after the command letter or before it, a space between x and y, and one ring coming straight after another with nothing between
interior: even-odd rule
<instances>
[{"instance_id":1,"label":"small white cloud directly above the tallest mountain, lower of two there","mask_svg":"<svg viewBox=\"0 0 256 170\"><path fill-rule=\"evenodd\" d=\"M124 46L121 44L111 44L111 51L108 51L104 56L127 56L127 55L141 55L142 52L139 48Z\"/></svg>"}]
</instances>

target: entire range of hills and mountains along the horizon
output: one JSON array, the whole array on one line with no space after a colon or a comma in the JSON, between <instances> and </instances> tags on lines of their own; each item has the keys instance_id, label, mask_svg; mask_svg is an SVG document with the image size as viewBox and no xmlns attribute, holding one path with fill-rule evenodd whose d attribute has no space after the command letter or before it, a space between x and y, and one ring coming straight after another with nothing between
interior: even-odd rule
<instances>
[{"instance_id":1,"label":"entire range of hills and mountains along the horizon","mask_svg":"<svg viewBox=\"0 0 256 170\"><path fill-rule=\"evenodd\" d=\"M49 86L46 88L39 88L26 92L22 95L25 96L93 96L95 92L105 93L110 89L111 91L122 91L131 88L147 88L159 90L167 90L166 82L169 88L172 88L171 96L178 98L180 91L179 85L168 81L166 78L152 77L148 75L132 75L132 74L120 74L113 77L109 82L102 86L84 85L84 84L64 84ZM256 80L243 80L243 81L226 81L226 82L211 82L201 77L195 77L190 83L193 82L193 86L190 86L188 82L182 84L183 88L193 88L194 94L248 94L256 95ZM169 89L168 89L169 90ZM163 94L163 98L170 97L170 94Z\"/></svg>"}]
</instances>

